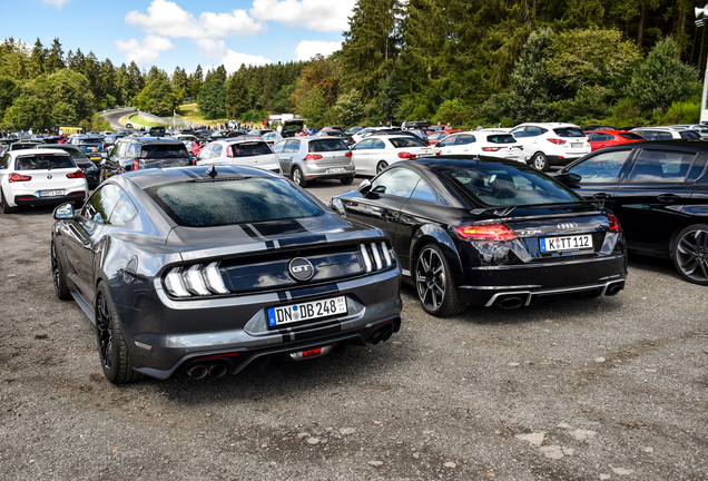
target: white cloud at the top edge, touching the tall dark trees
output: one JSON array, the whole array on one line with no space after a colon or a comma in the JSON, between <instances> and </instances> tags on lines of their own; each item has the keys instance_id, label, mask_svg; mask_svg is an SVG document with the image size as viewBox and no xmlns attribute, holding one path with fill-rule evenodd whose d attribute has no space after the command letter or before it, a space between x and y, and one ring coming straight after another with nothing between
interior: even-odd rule
<instances>
[{"instance_id":1,"label":"white cloud at the top edge, touching the tall dark trees","mask_svg":"<svg viewBox=\"0 0 708 481\"><path fill-rule=\"evenodd\" d=\"M288 27L331 32L350 28L356 0L254 0L250 14L258 20L274 20Z\"/></svg>"}]
</instances>

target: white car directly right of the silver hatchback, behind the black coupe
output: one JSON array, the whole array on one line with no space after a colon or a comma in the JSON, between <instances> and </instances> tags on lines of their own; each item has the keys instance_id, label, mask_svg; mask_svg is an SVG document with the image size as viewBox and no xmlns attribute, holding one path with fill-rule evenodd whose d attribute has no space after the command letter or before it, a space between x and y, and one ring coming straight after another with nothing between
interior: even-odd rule
<instances>
[{"instance_id":1,"label":"white car directly right of the silver hatchback, behind the black coupe","mask_svg":"<svg viewBox=\"0 0 708 481\"><path fill-rule=\"evenodd\" d=\"M426 146L412 135L372 136L352 147L354 166L358 175L376 175L391 164L401 160L435 155L435 148Z\"/></svg>"}]
</instances>

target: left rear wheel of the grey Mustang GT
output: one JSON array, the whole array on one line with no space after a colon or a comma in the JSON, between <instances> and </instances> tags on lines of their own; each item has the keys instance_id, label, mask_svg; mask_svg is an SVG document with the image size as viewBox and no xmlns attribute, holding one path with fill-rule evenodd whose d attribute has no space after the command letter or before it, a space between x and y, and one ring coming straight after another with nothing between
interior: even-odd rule
<instances>
[{"instance_id":1,"label":"left rear wheel of the grey Mustang GT","mask_svg":"<svg viewBox=\"0 0 708 481\"><path fill-rule=\"evenodd\" d=\"M130 353L122 334L114 297L106 284L96 291L96 338L104 375L114 384L124 384L145 377L132 370Z\"/></svg>"}]
</instances>

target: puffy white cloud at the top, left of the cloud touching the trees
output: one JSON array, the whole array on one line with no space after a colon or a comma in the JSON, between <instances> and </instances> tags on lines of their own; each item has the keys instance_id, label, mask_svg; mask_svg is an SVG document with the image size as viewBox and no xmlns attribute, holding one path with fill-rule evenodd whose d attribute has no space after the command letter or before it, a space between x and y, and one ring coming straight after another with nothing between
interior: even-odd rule
<instances>
[{"instance_id":1,"label":"puffy white cloud at the top, left of the cloud touching the trees","mask_svg":"<svg viewBox=\"0 0 708 481\"><path fill-rule=\"evenodd\" d=\"M147 14L137 10L126 13L126 23L149 33L190 39L256 35L264 28L246 10L234 10L230 13L203 12L197 19L177 3L167 0L153 0Z\"/></svg>"}]
</instances>

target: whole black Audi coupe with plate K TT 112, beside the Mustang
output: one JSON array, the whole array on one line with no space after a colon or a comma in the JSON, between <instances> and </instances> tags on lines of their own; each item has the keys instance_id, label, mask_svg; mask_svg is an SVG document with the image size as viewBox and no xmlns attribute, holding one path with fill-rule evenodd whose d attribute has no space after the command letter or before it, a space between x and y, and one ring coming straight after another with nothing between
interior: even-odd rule
<instances>
[{"instance_id":1,"label":"whole black Audi coupe with plate K TT 112, beside the Mustang","mask_svg":"<svg viewBox=\"0 0 708 481\"><path fill-rule=\"evenodd\" d=\"M484 157L395 163L332 199L386 230L423 308L505 308L538 297L614 295L625 286L621 227L533 167Z\"/></svg>"}]
</instances>

